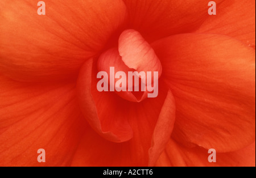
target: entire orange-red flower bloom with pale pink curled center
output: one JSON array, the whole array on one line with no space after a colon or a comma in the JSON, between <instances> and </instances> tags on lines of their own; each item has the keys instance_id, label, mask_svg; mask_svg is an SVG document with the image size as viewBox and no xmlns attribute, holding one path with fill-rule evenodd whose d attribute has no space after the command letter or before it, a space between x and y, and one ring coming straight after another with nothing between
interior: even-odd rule
<instances>
[{"instance_id":1,"label":"entire orange-red flower bloom with pale pink curled center","mask_svg":"<svg viewBox=\"0 0 256 178\"><path fill-rule=\"evenodd\" d=\"M255 1L44 2L0 1L0 166L255 166ZM158 97L99 92L110 66Z\"/></svg>"}]
</instances>

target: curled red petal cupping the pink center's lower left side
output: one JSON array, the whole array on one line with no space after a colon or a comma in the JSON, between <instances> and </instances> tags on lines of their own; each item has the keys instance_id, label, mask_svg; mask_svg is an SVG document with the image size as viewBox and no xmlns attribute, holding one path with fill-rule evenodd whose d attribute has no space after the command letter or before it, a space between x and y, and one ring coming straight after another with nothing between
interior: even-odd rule
<instances>
[{"instance_id":1,"label":"curled red petal cupping the pink center's lower left side","mask_svg":"<svg viewBox=\"0 0 256 178\"><path fill-rule=\"evenodd\" d=\"M119 113L126 104L118 106L121 98L113 92L97 91L96 79L97 67L93 67L93 60L88 60L81 67L77 79L77 97L84 117L105 139L113 142L128 141L133 137L133 130L126 118Z\"/></svg>"}]
</instances>

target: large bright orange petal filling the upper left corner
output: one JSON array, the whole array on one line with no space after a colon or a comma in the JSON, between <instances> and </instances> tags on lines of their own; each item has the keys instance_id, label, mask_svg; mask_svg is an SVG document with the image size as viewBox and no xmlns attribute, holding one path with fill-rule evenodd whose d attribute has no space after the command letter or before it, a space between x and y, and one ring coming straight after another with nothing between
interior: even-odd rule
<instances>
[{"instance_id":1,"label":"large bright orange petal filling the upper left corner","mask_svg":"<svg viewBox=\"0 0 256 178\"><path fill-rule=\"evenodd\" d=\"M74 78L124 22L121 0L0 2L0 71L21 81Z\"/></svg>"}]
</instances>

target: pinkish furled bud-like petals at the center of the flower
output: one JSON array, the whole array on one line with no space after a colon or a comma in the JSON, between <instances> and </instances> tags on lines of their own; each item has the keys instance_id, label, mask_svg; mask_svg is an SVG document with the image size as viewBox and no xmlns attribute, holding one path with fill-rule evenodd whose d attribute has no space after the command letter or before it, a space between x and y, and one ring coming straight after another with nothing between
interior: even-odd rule
<instances>
[{"instance_id":1,"label":"pinkish furled bud-like petals at the center of the flower","mask_svg":"<svg viewBox=\"0 0 256 178\"><path fill-rule=\"evenodd\" d=\"M133 29L119 36L118 48L101 54L98 91L115 91L123 99L140 102L158 96L162 65L150 44Z\"/></svg>"}]
</instances>

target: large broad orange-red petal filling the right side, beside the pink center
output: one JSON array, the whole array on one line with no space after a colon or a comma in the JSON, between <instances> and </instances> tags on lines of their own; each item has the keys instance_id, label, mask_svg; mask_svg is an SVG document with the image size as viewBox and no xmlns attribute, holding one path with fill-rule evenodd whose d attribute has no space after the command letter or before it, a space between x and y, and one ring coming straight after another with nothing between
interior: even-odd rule
<instances>
[{"instance_id":1,"label":"large broad orange-red petal filling the right side, beside the pink center","mask_svg":"<svg viewBox=\"0 0 256 178\"><path fill-rule=\"evenodd\" d=\"M152 44L176 101L172 137L236 151L255 141L255 50L227 36L184 34Z\"/></svg>"}]
</instances>

